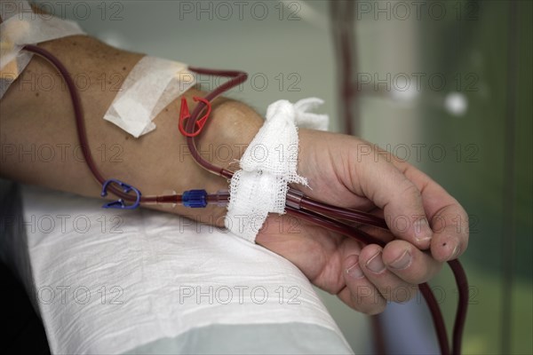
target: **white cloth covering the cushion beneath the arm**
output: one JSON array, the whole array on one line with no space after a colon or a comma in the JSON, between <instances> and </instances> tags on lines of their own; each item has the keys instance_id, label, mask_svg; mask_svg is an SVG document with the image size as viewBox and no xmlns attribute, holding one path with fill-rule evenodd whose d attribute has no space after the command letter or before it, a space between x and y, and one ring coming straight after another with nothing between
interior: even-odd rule
<instances>
[{"instance_id":1,"label":"white cloth covering the cushion beneath the arm","mask_svg":"<svg viewBox=\"0 0 533 355\"><path fill-rule=\"evenodd\" d=\"M11 252L29 257L52 353L123 353L216 324L314 324L346 343L306 277L266 248L169 213L32 186L22 198L9 223L27 240Z\"/></svg>"}]
</instances>

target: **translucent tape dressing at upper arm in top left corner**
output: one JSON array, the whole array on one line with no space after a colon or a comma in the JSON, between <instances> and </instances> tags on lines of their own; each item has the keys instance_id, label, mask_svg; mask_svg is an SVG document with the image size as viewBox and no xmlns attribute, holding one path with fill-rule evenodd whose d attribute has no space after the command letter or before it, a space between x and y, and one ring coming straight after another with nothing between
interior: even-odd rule
<instances>
[{"instance_id":1,"label":"translucent tape dressing at upper arm in top left corner","mask_svg":"<svg viewBox=\"0 0 533 355\"><path fill-rule=\"evenodd\" d=\"M85 34L76 22L33 12L27 1L2 2L0 17L0 99L33 56L22 47Z\"/></svg>"}]
</instances>

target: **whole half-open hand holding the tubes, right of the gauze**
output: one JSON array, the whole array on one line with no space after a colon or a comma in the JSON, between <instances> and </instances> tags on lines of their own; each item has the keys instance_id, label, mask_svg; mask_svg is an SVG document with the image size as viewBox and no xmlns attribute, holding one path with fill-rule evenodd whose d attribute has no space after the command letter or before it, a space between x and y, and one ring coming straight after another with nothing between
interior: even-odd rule
<instances>
[{"instance_id":1,"label":"whole half-open hand holding the tubes, right of the gauze","mask_svg":"<svg viewBox=\"0 0 533 355\"><path fill-rule=\"evenodd\" d=\"M298 187L316 200L385 217L391 231L361 227L388 242L381 248L269 216L256 241L296 264L314 285L376 314L386 301L414 297L416 285L465 251L465 209L430 177L358 138L315 130L299 130L299 137L298 174L312 189Z\"/></svg>"}]
</instances>

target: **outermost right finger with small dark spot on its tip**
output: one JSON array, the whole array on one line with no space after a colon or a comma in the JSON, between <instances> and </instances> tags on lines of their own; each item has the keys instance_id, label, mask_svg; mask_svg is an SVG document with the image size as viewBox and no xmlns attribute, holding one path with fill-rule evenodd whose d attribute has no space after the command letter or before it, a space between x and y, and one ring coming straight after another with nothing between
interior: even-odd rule
<instances>
[{"instance_id":1,"label":"outermost right finger with small dark spot on its tip","mask_svg":"<svg viewBox=\"0 0 533 355\"><path fill-rule=\"evenodd\" d=\"M468 216L465 209L434 180L412 165L396 162L421 191L422 203L434 231L431 252L435 259L448 261L460 256L468 246Z\"/></svg>"}]
</instances>

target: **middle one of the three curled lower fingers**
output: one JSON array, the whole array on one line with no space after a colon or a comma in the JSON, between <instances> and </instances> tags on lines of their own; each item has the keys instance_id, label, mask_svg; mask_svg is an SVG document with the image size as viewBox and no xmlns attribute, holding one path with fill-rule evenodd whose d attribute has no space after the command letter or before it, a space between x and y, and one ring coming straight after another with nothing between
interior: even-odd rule
<instances>
[{"instance_id":1,"label":"middle one of the three curled lower fingers","mask_svg":"<svg viewBox=\"0 0 533 355\"><path fill-rule=\"evenodd\" d=\"M387 301L407 302L417 296L418 286L402 280L386 268L383 261L383 249L376 244L362 249L359 264L364 265L362 272L378 288Z\"/></svg>"}]
</instances>

